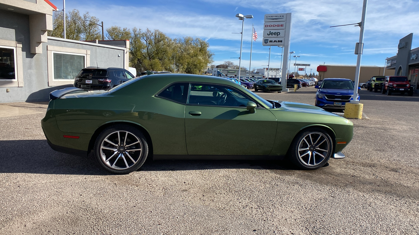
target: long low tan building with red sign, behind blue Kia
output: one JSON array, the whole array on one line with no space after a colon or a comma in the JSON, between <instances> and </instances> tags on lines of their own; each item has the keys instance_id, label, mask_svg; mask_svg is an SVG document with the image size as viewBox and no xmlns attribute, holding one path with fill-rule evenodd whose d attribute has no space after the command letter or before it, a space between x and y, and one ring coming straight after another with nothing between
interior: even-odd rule
<instances>
[{"instance_id":1,"label":"long low tan building with red sign, behind blue Kia","mask_svg":"<svg viewBox=\"0 0 419 235\"><path fill-rule=\"evenodd\" d=\"M319 80L325 78L347 78L355 80L355 65L322 64L317 67ZM326 71L324 71L326 70ZM384 67L361 66L360 83L367 82L372 76L383 76ZM385 69L385 76L394 75L394 70Z\"/></svg>"}]
</instances>

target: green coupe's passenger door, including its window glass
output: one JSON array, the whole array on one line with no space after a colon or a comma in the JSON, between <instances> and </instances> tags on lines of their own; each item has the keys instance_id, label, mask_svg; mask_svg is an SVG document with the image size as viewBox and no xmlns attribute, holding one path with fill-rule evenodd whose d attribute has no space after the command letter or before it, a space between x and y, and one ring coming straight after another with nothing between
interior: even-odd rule
<instances>
[{"instance_id":1,"label":"green coupe's passenger door, including its window glass","mask_svg":"<svg viewBox=\"0 0 419 235\"><path fill-rule=\"evenodd\" d=\"M269 110L246 109L253 101L229 86L190 85L185 108L186 148L189 155L269 155L277 120Z\"/></svg>"}]
</instances>

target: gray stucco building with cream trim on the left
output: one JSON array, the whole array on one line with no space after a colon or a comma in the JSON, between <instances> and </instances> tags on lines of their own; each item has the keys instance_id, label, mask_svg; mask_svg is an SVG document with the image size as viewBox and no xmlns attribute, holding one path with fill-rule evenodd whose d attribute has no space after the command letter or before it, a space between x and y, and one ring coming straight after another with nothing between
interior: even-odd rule
<instances>
[{"instance_id":1,"label":"gray stucco building with cream trim on the left","mask_svg":"<svg viewBox=\"0 0 419 235\"><path fill-rule=\"evenodd\" d=\"M49 0L0 0L0 102L49 100L88 66L128 69L127 40L47 36L55 10Z\"/></svg>"}]
</instances>

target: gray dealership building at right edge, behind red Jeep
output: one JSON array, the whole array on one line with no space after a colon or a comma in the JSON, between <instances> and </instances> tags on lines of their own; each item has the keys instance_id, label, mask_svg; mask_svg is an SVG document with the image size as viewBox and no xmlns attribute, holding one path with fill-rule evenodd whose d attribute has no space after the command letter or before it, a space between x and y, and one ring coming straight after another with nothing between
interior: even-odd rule
<instances>
[{"instance_id":1,"label":"gray dealership building at right edge, behind red Jeep","mask_svg":"<svg viewBox=\"0 0 419 235\"><path fill-rule=\"evenodd\" d=\"M413 33L401 38L397 45L397 55L387 59L387 69L397 76L407 76L414 92L419 93L419 47L411 49Z\"/></svg>"}]
</instances>

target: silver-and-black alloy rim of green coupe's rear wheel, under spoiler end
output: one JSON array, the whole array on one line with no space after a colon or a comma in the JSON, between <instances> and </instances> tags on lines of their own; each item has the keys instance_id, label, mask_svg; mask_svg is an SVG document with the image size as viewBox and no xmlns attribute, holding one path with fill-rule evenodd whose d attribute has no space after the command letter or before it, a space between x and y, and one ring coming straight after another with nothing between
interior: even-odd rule
<instances>
[{"instance_id":1,"label":"silver-and-black alloy rim of green coupe's rear wheel, under spoiler end","mask_svg":"<svg viewBox=\"0 0 419 235\"><path fill-rule=\"evenodd\" d=\"M102 161L111 169L124 170L137 163L141 158L142 144L133 133L118 130L103 139L100 146Z\"/></svg>"}]
</instances>

